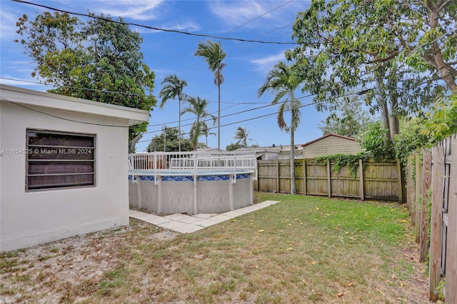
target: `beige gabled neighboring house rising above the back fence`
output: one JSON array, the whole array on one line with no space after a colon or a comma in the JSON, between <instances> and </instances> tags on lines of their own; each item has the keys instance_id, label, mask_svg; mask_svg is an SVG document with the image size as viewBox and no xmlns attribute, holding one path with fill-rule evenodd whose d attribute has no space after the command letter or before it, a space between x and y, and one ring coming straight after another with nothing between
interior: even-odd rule
<instances>
[{"instance_id":1,"label":"beige gabled neighboring house rising above the back fence","mask_svg":"<svg viewBox=\"0 0 457 304\"><path fill-rule=\"evenodd\" d=\"M357 154L363 149L354 138L329 133L308 143L301 145L301 158L315 158L333 154Z\"/></svg>"}]
</instances>

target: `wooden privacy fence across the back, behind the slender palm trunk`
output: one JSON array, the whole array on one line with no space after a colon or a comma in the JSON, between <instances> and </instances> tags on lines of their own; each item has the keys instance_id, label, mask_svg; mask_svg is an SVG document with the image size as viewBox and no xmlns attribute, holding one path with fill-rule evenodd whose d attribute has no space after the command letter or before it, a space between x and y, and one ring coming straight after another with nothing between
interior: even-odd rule
<instances>
[{"instance_id":1,"label":"wooden privacy fence across the back, behind the slender palm trunk","mask_svg":"<svg viewBox=\"0 0 457 304\"><path fill-rule=\"evenodd\" d=\"M364 165L364 166L363 166ZM258 161L256 191L276 193L291 192L291 167L289 160ZM406 201L406 184L400 161L362 164L358 162L356 172L349 166L333 171L335 164L321 165L313 159L295 161L295 183L298 194L315 196L339 196Z\"/></svg>"}]
</instances>

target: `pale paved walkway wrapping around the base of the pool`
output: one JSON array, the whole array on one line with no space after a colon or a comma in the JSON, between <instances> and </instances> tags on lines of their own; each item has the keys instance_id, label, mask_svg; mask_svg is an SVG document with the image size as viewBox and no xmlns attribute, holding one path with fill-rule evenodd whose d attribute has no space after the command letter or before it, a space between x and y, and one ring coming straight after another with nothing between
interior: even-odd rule
<instances>
[{"instance_id":1,"label":"pale paved walkway wrapping around the base of the pool","mask_svg":"<svg viewBox=\"0 0 457 304\"><path fill-rule=\"evenodd\" d=\"M141 221L145 221L156 226L174 230L179 233L193 233L197 230L229 221L237 216L257 211L258 209L271 206L278 201L264 201L257 203L253 206L248 206L226 213L199 213L194 216L187 216L186 214L171 214L170 216L156 216L151 213L145 213L136 210L130 210L129 216Z\"/></svg>"}]
</instances>

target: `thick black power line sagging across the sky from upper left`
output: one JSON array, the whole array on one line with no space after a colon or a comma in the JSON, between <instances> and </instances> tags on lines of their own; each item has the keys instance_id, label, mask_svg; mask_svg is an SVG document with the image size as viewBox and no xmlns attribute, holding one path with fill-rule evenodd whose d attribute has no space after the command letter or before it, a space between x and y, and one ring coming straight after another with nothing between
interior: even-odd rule
<instances>
[{"instance_id":1,"label":"thick black power line sagging across the sky from upper left","mask_svg":"<svg viewBox=\"0 0 457 304\"><path fill-rule=\"evenodd\" d=\"M156 26L146 26L144 24L136 24L134 22L116 21L116 20L104 18L104 17L101 17L101 16L91 16L90 14L76 13L74 11L66 11L64 9L56 9L54 7L47 6L47 5L44 5L44 4L35 4L35 3L29 2L29 1L24 1L24 0L11 0L11 1L18 2L18 3L21 3L21 4L30 4L30 5L33 5L33 6L39 6L39 7L42 7L44 9L51 9L53 11L60 11L62 13L66 13L66 14L71 14L71 15L76 15L76 16L84 16L84 17L88 17L88 18L92 18L92 19L99 19L99 20L103 20L103 21L107 21L107 22L113 22L113 23L116 23L116 24L124 24L124 25L129 25L129 26L138 26L138 27L141 27L141 28L144 28L144 29L152 29L154 31L166 31L166 32L169 32L169 33L184 34L184 35L189 35L189 36L206 37L206 38L221 39L221 40L231 40L231 41L241 41L241 42L253 42L253 43L257 43L257 44L298 45L296 42L261 41L261 40L251 40L251 39L241 39L241 38L214 36L214 35L209 35L209 34L194 34L194 33L188 32L188 31L179 31L177 29L161 29L161 28L156 27Z\"/></svg>"}]
</instances>

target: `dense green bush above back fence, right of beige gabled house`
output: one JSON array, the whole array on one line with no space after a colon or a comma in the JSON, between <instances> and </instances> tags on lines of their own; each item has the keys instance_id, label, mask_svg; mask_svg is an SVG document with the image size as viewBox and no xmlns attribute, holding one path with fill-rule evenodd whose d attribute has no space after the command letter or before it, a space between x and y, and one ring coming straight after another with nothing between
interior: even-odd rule
<instances>
[{"instance_id":1,"label":"dense green bush above back fence, right of beige gabled house","mask_svg":"<svg viewBox=\"0 0 457 304\"><path fill-rule=\"evenodd\" d=\"M361 148L366 150L369 157L375 161L384 161L395 157L393 144L386 136L387 130L381 127L381 123L371 123L365 132L358 136Z\"/></svg>"}]
</instances>

